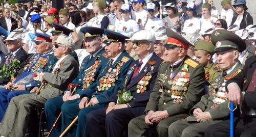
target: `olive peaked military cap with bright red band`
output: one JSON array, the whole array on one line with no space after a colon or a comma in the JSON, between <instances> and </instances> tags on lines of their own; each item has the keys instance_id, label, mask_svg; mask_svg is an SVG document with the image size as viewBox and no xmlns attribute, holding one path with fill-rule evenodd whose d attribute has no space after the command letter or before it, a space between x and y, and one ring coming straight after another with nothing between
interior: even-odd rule
<instances>
[{"instance_id":1,"label":"olive peaked military cap with bright red band","mask_svg":"<svg viewBox=\"0 0 256 137\"><path fill-rule=\"evenodd\" d=\"M191 45L184 37L178 35L169 28L166 28L166 36L167 40L163 44L164 47L178 46L184 49L188 49L189 45Z\"/></svg>"}]
</instances>

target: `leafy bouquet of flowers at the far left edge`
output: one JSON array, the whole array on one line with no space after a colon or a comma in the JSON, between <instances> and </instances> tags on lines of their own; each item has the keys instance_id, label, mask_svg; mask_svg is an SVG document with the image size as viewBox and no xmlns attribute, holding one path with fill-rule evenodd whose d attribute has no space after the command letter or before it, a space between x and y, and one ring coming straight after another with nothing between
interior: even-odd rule
<instances>
[{"instance_id":1,"label":"leafy bouquet of flowers at the far left edge","mask_svg":"<svg viewBox=\"0 0 256 137\"><path fill-rule=\"evenodd\" d=\"M11 78L16 76L20 68L20 61L17 59L6 58L5 65L0 69L0 78Z\"/></svg>"}]
</instances>

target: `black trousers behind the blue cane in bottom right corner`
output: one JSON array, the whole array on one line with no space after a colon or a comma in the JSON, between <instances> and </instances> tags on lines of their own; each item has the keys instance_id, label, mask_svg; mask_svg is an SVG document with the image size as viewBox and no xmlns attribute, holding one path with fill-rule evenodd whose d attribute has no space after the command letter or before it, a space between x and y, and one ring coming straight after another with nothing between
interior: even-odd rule
<instances>
[{"instance_id":1,"label":"black trousers behind the blue cane in bottom right corner","mask_svg":"<svg viewBox=\"0 0 256 137\"><path fill-rule=\"evenodd\" d=\"M230 136L230 119L209 126L206 129L204 136ZM235 117L234 136L256 136L256 117L247 116L243 120L240 117Z\"/></svg>"}]
</instances>

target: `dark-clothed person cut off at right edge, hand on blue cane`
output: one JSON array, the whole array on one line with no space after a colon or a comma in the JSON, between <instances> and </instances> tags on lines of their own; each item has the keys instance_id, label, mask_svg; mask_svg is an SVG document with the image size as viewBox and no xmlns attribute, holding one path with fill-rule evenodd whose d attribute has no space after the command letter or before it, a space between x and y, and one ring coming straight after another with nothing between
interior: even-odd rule
<instances>
[{"instance_id":1,"label":"dark-clothed person cut off at right edge, hand on blue cane","mask_svg":"<svg viewBox=\"0 0 256 137\"><path fill-rule=\"evenodd\" d=\"M229 79L225 85L228 92L228 99L239 105L241 111L234 113L234 134L236 136L256 136L256 37L247 39L253 41L254 56L249 57L242 71L235 77ZM215 125L209 126L204 136L228 136L230 119L224 120Z\"/></svg>"}]
</instances>

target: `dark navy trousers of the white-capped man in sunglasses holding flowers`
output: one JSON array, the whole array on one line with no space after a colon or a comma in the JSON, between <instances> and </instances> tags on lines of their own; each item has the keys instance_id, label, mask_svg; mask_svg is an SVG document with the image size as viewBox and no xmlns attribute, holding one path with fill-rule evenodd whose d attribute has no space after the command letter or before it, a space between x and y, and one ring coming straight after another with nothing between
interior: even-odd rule
<instances>
[{"instance_id":1,"label":"dark navy trousers of the white-capped man in sunglasses holding flowers","mask_svg":"<svg viewBox=\"0 0 256 137\"><path fill-rule=\"evenodd\" d=\"M99 108L87 115L86 131L91 137L126 136L127 126L135 118L132 108L114 109L106 115L106 108Z\"/></svg>"}]
</instances>

